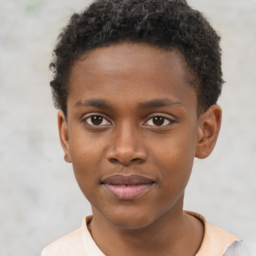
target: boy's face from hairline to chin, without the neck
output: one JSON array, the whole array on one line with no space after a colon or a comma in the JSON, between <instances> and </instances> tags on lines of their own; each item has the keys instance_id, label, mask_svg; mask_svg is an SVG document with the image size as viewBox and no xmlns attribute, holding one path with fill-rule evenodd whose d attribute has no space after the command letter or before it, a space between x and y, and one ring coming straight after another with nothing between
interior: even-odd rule
<instances>
[{"instance_id":1,"label":"boy's face from hairline to chin, without the neck","mask_svg":"<svg viewBox=\"0 0 256 256\"><path fill-rule=\"evenodd\" d=\"M126 228L182 211L198 119L179 52L131 43L90 51L72 66L62 119L65 159L93 211Z\"/></svg>"}]
</instances>

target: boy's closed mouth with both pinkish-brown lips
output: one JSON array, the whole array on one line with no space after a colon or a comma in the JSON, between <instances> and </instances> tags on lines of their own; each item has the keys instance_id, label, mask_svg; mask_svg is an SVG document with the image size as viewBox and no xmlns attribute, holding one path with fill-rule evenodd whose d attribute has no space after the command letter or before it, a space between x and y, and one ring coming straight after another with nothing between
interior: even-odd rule
<instances>
[{"instance_id":1,"label":"boy's closed mouth with both pinkish-brown lips","mask_svg":"<svg viewBox=\"0 0 256 256\"><path fill-rule=\"evenodd\" d=\"M121 175L116 174L103 178L100 184L114 197L121 200L135 199L146 191L155 182L140 175Z\"/></svg>"}]
</instances>

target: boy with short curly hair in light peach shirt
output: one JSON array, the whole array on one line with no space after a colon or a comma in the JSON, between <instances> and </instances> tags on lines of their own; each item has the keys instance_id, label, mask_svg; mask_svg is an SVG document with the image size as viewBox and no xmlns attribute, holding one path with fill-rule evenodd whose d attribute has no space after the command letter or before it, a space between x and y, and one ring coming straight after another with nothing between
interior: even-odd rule
<instances>
[{"instance_id":1,"label":"boy with short curly hair in light peach shirt","mask_svg":"<svg viewBox=\"0 0 256 256\"><path fill-rule=\"evenodd\" d=\"M183 211L221 122L219 36L184 0L97 0L73 14L50 85L64 159L91 203L47 255L223 255L240 241Z\"/></svg>"}]
</instances>

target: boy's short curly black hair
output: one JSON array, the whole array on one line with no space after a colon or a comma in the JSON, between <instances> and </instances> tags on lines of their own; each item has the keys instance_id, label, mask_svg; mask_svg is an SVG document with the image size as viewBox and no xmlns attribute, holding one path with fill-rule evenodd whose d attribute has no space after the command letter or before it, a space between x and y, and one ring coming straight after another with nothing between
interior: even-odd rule
<instances>
[{"instance_id":1,"label":"boy's short curly black hair","mask_svg":"<svg viewBox=\"0 0 256 256\"><path fill-rule=\"evenodd\" d=\"M145 43L184 56L194 77L197 111L216 104L223 84L220 37L185 0L96 0L74 13L53 50L53 103L67 116L68 78L84 52L121 42Z\"/></svg>"}]
</instances>

